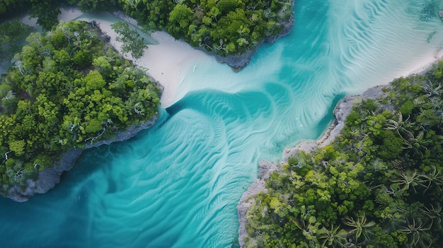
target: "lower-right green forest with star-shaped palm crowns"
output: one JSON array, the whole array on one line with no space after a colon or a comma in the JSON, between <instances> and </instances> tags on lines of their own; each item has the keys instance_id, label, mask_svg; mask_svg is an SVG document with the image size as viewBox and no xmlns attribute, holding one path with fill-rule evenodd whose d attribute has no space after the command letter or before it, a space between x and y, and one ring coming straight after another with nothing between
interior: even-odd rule
<instances>
[{"instance_id":1,"label":"lower-right green forest with star-shaped palm crowns","mask_svg":"<svg viewBox=\"0 0 443 248\"><path fill-rule=\"evenodd\" d=\"M267 179L247 247L443 247L442 81L440 61L355 102L332 144Z\"/></svg>"}]
</instances>

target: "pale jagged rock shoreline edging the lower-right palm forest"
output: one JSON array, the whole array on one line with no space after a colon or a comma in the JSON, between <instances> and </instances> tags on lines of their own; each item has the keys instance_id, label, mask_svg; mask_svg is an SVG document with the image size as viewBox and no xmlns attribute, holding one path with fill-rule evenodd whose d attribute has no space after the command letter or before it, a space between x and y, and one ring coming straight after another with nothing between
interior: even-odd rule
<instances>
[{"instance_id":1,"label":"pale jagged rock shoreline edging the lower-right palm forest","mask_svg":"<svg viewBox=\"0 0 443 248\"><path fill-rule=\"evenodd\" d=\"M270 162L267 160L260 161L258 165L258 179L255 179L254 182L248 187L248 190L243 193L237 205L238 222L240 223L240 228L238 228L238 242L240 243L240 247L246 247L244 241L246 237L251 239L246 231L247 212L251 208L254 201L254 196L256 194L259 192L267 193L267 189L265 188L265 179L270 177L270 173L280 170L282 165L288 163L288 159L300 150L310 153L316 148L328 146L343 129L345 119L352 111L354 102L360 99L364 100L367 98L383 97L387 94L383 92L383 89L386 87L389 87L389 85L376 85L364 91L362 94L346 96L340 100L340 102L338 102L334 109L335 119L320 138L317 140L301 141L294 148L284 149L281 162Z\"/></svg>"}]
</instances>

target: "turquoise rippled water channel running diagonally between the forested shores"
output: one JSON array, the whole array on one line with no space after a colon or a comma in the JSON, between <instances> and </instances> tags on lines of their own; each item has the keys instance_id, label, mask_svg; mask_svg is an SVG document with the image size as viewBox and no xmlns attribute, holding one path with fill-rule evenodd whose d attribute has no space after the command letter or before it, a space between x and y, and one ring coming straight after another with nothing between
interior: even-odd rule
<instances>
[{"instance_id":1,"label":"turquoise rippled water channel running diagonally between the forested shores","mask_svg":"<svg viewBox=\"0 0 443 248\"><path fill-rule=\"evenodd\" d=\"M84 153L47 194L0 199L0 247L236 247L258 162L321 135L344 94L436 56L439 4L297 0L292 33L246 69L195 64L156 126Z\"/></svg>"}]
</instances>

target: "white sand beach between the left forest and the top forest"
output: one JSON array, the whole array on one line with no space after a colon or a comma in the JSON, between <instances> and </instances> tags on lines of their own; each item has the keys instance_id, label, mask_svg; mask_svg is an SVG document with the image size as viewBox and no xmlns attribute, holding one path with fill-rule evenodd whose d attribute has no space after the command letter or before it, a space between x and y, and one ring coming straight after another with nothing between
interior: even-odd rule
<instances>
[{"instance_id":1,"label":"white sand beach between the left forest and the top forest","mask_svg":"<svg viewBox=\"0 0 443 248\"><path fill-rule=\"evenodd\" d=\"M83 13L78 9L61 9L59 20L69 21L79 18ZM110 44L122 53L122 43L117 42L117 34L110 27L112 23L98 18L80 18L79 20L95 20L103 33L110 36ZM161 105L168 107L178 100L178 88L186 74L202 58L209 57L202 51L194 49L183 41L175 40L165 32L155 32L151 34L158 45L149 45L145 49L143 57L134 59L130 54L125 54L126 59L130 59L138 66L149 69L148 73L163 85L163 95L161 95Z\"/></svg>"}]
</instances>

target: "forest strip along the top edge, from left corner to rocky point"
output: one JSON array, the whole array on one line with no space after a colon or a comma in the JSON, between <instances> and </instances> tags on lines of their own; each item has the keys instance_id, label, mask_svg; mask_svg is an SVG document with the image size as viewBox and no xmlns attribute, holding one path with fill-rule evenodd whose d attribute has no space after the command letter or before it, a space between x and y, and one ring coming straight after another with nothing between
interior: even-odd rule
<instances>
[{"instance_id":1,"label":"forest strip along the top edge, from left corner to rocky point","mask_svg":"<svg viewBox=\"0 0 443 248\"><path fill-rule=\"evenodd\" d=\"M59 4L81 11L122 10L146 30L166 30L176 39L214 54L243 54L292 21L291 0L5 0L0 16L23 13L46 30L57 25Z\"/></svg>"}]
</instances>

